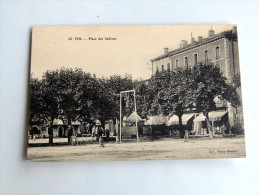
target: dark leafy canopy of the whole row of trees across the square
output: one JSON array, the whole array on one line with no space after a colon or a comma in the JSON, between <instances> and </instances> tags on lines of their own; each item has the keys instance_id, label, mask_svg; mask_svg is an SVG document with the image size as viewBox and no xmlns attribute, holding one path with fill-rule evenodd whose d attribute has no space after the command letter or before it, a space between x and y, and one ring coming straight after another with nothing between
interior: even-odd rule
<instances>
[{"instance_id":1,"label":"dark leafy canopy of the whole row of trees across the square","mask_svg":"<svg viewBox=\"0 0 259 195\"><path fill-rule=\"evenodd\" d=\"M95 119L118 119L120 92L135 89L137 111L142 118L175 114L181 127L186 111L203 112L208 117L208 112L216 108L215 97L238 107L236 88L240 86L239 75L228 83L220 68L211 63L157 72L148 80L133 80L127 74L97 78L81 69L61 68L46 71L42 79L30 79L30 119L43 118L50 125L55 118L67 124L75 120L91 123ZM122 100L123 115L129 116L134 110L133 96L124 94Z\"/></svg>"}]
</instances>

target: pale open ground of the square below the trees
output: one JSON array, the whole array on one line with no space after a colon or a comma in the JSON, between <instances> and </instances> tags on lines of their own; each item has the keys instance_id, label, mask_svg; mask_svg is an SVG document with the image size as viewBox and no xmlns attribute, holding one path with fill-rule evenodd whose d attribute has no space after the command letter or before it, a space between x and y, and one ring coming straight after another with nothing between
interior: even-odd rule
<instances>
[{"instance_id":1,"label":"pale open ground of the square below the trees","mask_svg":"<svg viewBox=\"0 0 259 195\"><path fill-rule=\"evenodd\" d=\"M66 140L65 138L54 139L54 142ZM27 159L29 161L123 161L245 157L245 139L243 137L200 138L191 139L189 142L171 138L140 143L118 144L113 142L106 143L103 148L100 148L95 142L87 142L78 146L33 146L47 141L48 139L30 140L31 146L28 147Z\"/></svg>"}]
</instances>

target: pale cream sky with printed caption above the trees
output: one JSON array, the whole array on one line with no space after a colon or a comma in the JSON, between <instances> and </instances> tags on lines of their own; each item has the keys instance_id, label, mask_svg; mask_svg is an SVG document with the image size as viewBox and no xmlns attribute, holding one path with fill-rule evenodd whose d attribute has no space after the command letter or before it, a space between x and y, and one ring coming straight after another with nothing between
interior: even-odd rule
<instances>
[{"instance_id":1,"label":"pale cream sky with printed caption above the trees","mask_svg":"<svg viewBox=\"0 0 259 195\"><path fill-rule=\"evenodd\" d=\"M32 32L31 73L41 78L47 70L77 67L97 77L131 74L134 79L148 79L150 60L162 55L164 48L172 51L181 40L190 43L191 34L197 40L208 37L211 28L217 34L233 26L37 26Z\"/></svg>"}]
</instances>

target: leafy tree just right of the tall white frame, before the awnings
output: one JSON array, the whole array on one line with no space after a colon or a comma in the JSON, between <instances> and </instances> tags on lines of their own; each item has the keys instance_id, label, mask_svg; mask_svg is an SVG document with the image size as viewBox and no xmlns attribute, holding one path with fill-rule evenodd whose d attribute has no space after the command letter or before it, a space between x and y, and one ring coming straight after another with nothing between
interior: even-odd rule
<instances>
[{"instance_id":1,"label":"leafy tree just right of the tall white frame, before the awnings","mask_svg":"<svg viewBox=\"0 0 259 195\"><path fill-rule=\"evenodd\" d=\"M137 85L138 110L142 117L147 115L172 115L179 118L180 136L184 136L182 115L193 104L188 77L190 69L156 72L150 80Z\"/></svg>"}]
</instances>

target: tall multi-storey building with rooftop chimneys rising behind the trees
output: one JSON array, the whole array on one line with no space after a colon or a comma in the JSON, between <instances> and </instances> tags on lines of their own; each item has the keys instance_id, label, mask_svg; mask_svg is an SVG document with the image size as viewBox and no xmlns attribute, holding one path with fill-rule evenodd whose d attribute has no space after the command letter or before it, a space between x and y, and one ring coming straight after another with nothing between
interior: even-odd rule
<instances>
[{"instance_id":1,"label":"tall multi-storey building with rooftop chimneys rising behind the trees","mask_svg":"<svg viewBox=\"0 0 259 195\"><path fill-rule=\"evenodd\" d=\"M180 47L169 51L164 48L164 53L151 59L152 74L157 71L173 71L177 68L191 68L199 62L212 62L220 67L221 72L228 82L237 73L240 73L237 28L215 34L213 29L208 31L208 37L198 36L197 40L191 38L191 43L186 40L180 42ZM240 93L241 95L241 93ZM235 126L236 121L243 121L242 107L234 109L227 105L230 126Z\"/></svg>"}]
</instances>

